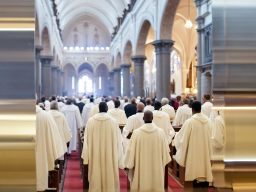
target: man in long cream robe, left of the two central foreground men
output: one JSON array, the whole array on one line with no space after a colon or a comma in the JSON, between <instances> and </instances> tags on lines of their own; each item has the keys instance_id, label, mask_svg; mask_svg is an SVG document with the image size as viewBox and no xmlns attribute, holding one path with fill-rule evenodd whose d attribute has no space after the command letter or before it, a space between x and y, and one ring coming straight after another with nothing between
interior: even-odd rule
<instances>
[{"instance_id":1,"label":"man in long cream robe, left of the two central foreground men","mask_svg":"<svg viewBox=\"0 0 256 192\"><path fill-rule=\"evenodd\" d=\"M120 192L118 168L125 168L121 130L107 114L106 102L99 104L99 110L88 120L84 133L82 158L89 163L89 192Z\"/></svg>"}]
</instances>

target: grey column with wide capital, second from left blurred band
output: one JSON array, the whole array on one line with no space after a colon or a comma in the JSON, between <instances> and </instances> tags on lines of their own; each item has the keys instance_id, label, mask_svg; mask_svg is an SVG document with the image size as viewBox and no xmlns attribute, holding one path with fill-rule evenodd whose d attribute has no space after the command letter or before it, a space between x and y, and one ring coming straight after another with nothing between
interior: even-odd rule
<instances>
[{"instance_id":1,"label":"grey column with wide capital, second from left blurred band","mask_svg":"<svg viewBox=\"0 0 256 192\"><path fill-rule=\"evenodd\" d=\"M52 72L51 72L51 61L53 56L40 56L42 65L42 95L46 96L46 99L51 96L52 92Z\"/></svg>"}]
</instances>

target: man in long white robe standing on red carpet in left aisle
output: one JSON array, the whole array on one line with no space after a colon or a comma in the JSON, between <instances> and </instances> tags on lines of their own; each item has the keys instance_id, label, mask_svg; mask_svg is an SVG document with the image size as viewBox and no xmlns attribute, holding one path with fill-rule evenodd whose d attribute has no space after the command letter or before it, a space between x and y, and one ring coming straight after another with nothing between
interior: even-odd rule
<instances>
[{"instance_id":1,"label":"man in long white robe standing on red carpet in left aisle","mask_svg":"<svg viewBox=\"0 0 256 192\"><path fill-rule=\"evenodd\" d=\"M71 130L72 138L69 142L68 147L68 154L71 154L72 151L76 151L76 144L77 144L77 138L78 138L78 129L82 128L83 121L80 114L80 110L78 106L75 106L74 104L71 104L71 99L67 99L66 106L62 107L61 111L67 120L68 126Z\"/></svg>"}]
</instances>

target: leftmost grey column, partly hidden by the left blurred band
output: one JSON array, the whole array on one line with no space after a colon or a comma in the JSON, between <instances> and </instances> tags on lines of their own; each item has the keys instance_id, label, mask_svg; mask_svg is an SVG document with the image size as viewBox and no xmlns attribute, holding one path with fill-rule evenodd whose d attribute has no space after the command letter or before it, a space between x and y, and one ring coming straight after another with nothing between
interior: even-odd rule
<instances>
[{"instance_id":1,"label":"leftmost grey column, partly hidden by the left blurred band","mask_svg":"<svg viewBox=\"0 0 256 192\"><path fill-rule=\"evenodd\" d=\"M39 94L41 98L41 62L40 62L40 52L43 50L42 46L36 45L36 93Z\"/></svg>"}]
</instances>

